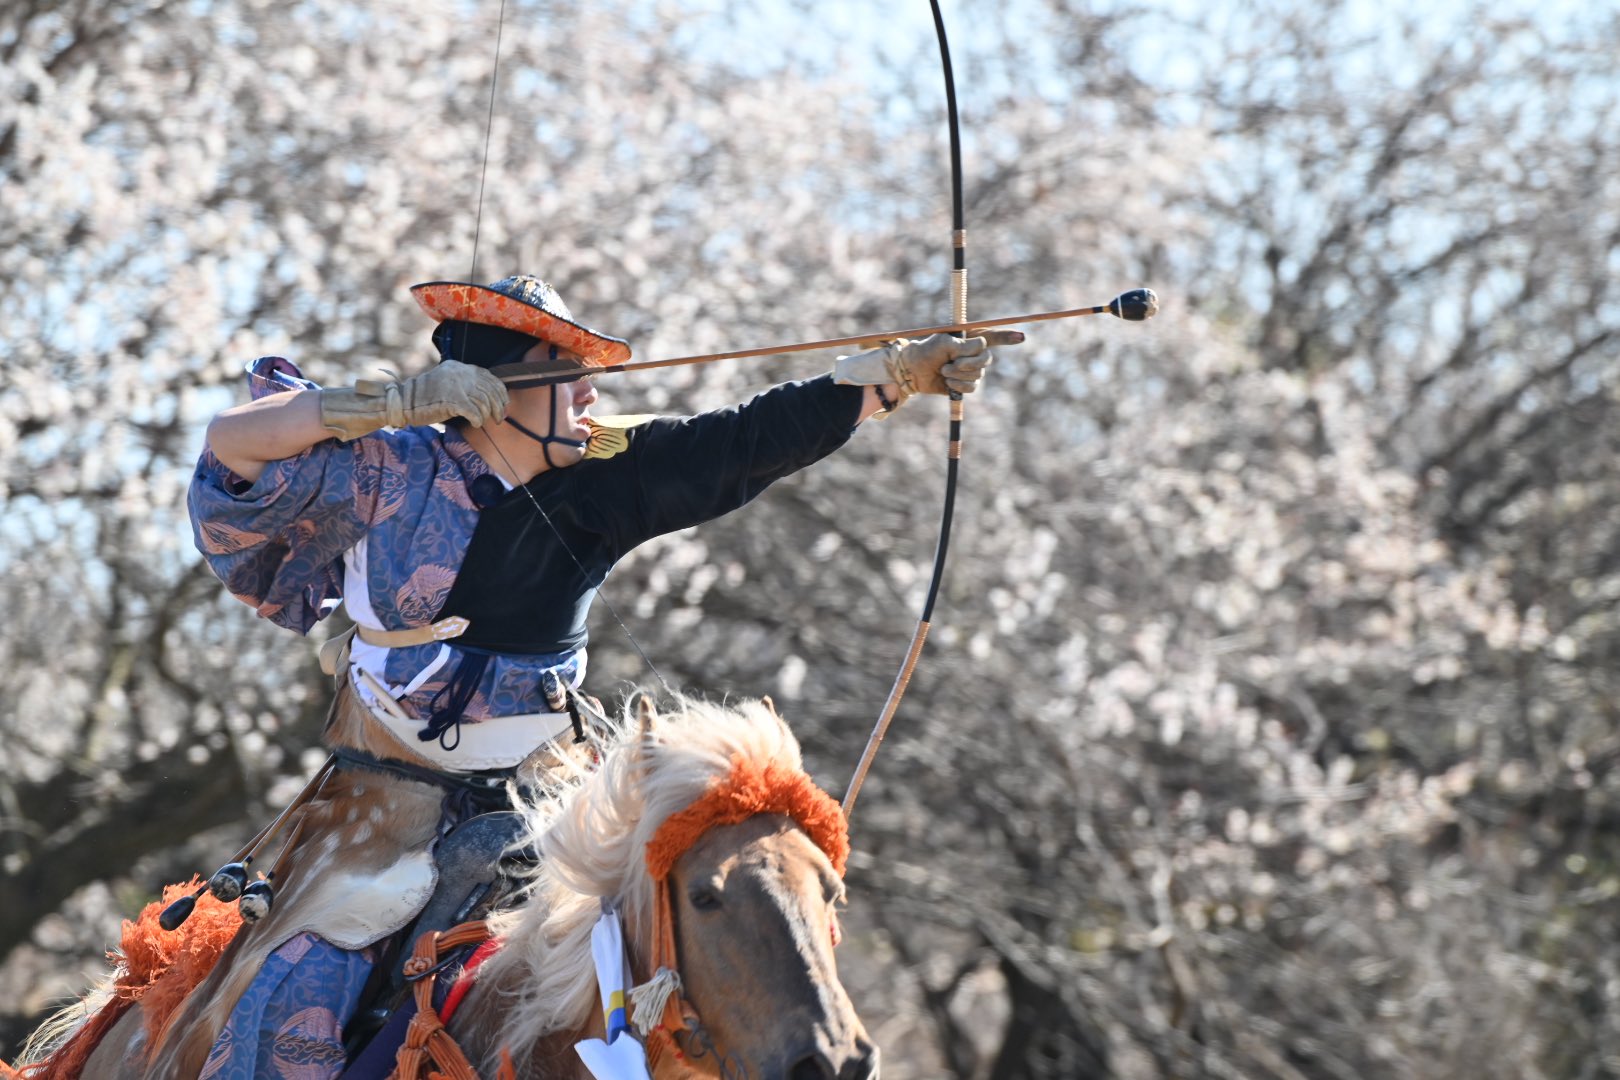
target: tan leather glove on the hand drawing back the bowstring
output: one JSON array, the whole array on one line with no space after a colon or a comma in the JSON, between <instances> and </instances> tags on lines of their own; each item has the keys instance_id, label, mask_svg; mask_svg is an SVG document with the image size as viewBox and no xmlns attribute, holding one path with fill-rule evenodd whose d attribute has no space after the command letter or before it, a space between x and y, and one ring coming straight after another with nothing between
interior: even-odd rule
<instances>
[{"instance_id":1,"label":"tan leather glove on the hand drawing back the bowstring","mask_svg":"<svg viewBox=\"0 0 1620 1080\"><path fill-rule=\"evenodd\" d=\"M321 424L343 442L379 427L442 424L455 416L483 427L505 410L505 384L458 359L403 381L361 379L353 387L321 390Z\"/></svg>"}]
</instances>

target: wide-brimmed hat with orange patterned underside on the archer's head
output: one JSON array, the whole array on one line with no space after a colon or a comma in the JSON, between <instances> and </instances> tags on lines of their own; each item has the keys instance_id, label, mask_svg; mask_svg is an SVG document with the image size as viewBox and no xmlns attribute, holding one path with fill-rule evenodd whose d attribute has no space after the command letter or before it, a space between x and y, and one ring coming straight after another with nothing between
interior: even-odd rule
<instances>
[{"instance_id":1,"label":"wide-brimmed hat with orange patterned underside on the archer's head","mask_svg":"<svg viewBox=\"0 0 1620 1080\"><path fill-rule=\"evenodd\" d=\"M630 359L629 342L575 322L557 290L528 274L504 277L492 285L426 282L411 285L410 295L436 322L478 322L517 330L578 353L593 368Z\"/></svg>"}]
</instances>

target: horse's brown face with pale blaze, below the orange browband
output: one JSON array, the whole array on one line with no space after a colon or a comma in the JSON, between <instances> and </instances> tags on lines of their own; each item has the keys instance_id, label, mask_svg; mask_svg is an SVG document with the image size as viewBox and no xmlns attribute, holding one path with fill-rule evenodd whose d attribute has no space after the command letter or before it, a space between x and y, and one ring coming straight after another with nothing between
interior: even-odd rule
<instances>
[{"instance_id":1,"label":"horse's brown face with pale blaze, below the orange browband","mask_svg":"<svg viewBox=\"0 0 1620 1080\"><path fill-rule=\"evenodd\" d=\"M833 960L844 882L804 829L781 814L714 826L676 860L669 889L700 1025L680 1043L697 1067L713 1052L732 1064L723 1075L750 1080L878 1075Z\"/></svg>"}]
</instances>

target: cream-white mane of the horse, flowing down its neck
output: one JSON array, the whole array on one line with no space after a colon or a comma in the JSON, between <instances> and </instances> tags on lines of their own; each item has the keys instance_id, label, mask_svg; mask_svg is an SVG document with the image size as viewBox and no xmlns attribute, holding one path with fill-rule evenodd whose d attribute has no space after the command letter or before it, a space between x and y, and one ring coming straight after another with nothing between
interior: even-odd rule
<instances>
[{"instance_id":1,"label":"cream-white mane of the horse, flowing down its neck","mask_svg":"<svg viewBox=\"0 0 1620 1080\"><path fill-rule=\"evenodd\" d=\"M528 902L492 920L505 944L480 973L515 994L502 1002L501 1036L515 1057L546 1035L585 1027L601 1007L590 936L603 900L619 902L632 962L648 955L645 853L658 826L724 777L735 755L804 767L799 742L768 703L679 698L674 709L646 737L633 717L622 721L596 772L526 808L541 865Z\"/></svg>"}]
</instances>

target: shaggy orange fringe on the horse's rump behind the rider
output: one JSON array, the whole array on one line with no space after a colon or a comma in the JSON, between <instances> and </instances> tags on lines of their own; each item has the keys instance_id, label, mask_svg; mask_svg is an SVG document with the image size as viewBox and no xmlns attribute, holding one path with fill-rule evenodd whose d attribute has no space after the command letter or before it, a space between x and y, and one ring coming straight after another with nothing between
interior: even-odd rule
<instances>
[{"instance_id":1,"label":"shaggy orange fringe on the horse's rump behind the rider","mask_svg":"<svg viewBox=\"0 0 1620 1080\"><path fill-rule=\"evenodd\" d=\"M191 918L178 929L157 925L168 904L196 892L201 884L201 878L193 878L164 886L160 900L147 904L133 921L125 920L118 949L107 954L117 965L112 999L49 1057L21 1069L0 1062L0 1080L78 1080L96 1046L136 1002L143 1002L147 1041L156 1044L164 1023L214 970L241 926L237 905L215 900L209 892L198 897Z\"/></svg>"}]
</instances>

